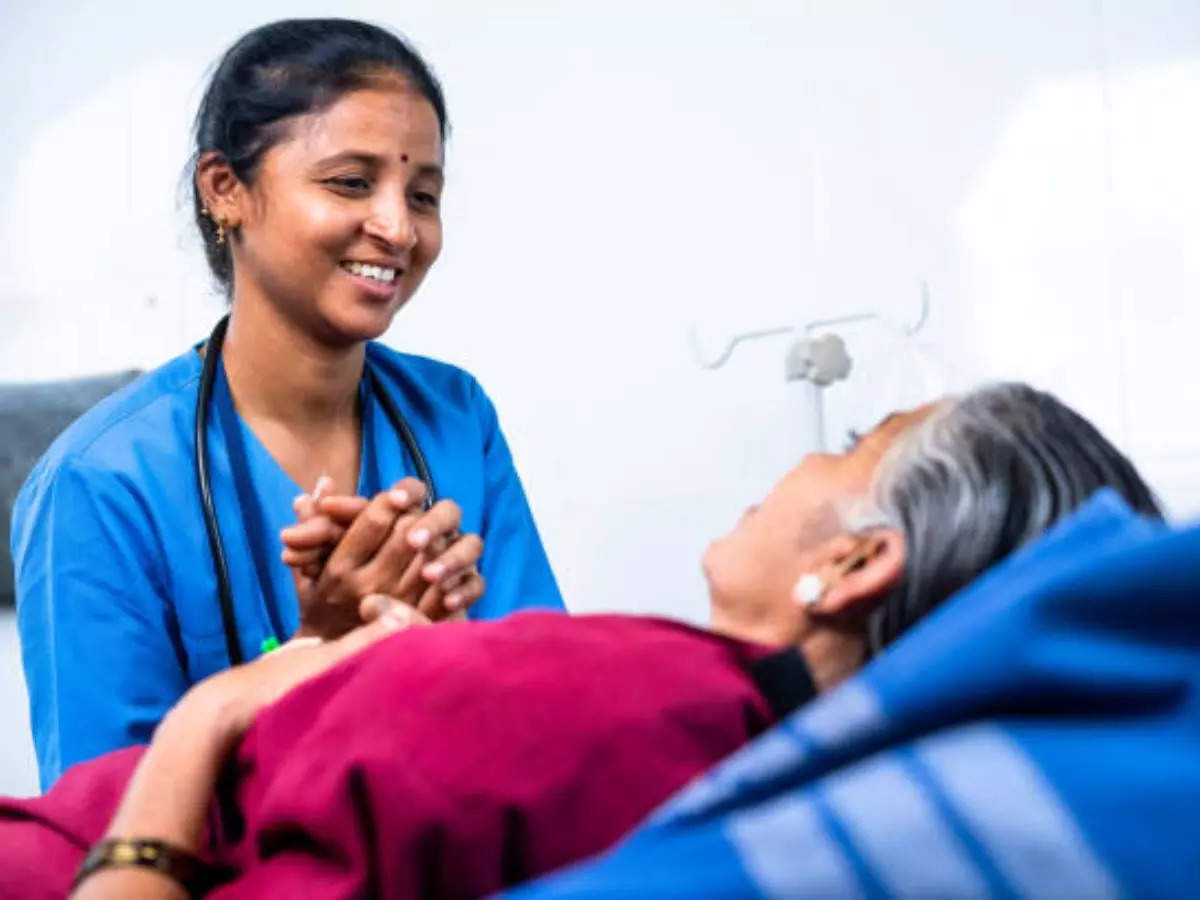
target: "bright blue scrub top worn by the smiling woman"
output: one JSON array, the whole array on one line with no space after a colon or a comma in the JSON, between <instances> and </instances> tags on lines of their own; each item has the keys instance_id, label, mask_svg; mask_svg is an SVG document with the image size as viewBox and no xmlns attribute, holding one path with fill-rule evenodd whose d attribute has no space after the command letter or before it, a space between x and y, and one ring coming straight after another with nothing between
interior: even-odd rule
<instances>
[{"instance_id":1,"label":"bright blue scrub top worn by the smiling woman","mask_svg":"<svg viewBox=\"0 0 1200 900\"><path fill-rule=\"evenodd\" d=\"M407 419L438 496L462 508L463 532L484 539L487 587L472 618L562 608L496 409L475 379L377 343L366 365ZM149 740L191 684L229 664L194 474L200 367L188 350L85 413L13 506L17 620L43 790L76 762ZM362 409L367 494L416 470L365 389ZM223 427L241 431L250 502L239 503ZM253 659L265 638L282 641L299 624L278 533L294 521L301 486L233 412L221 368L208 430L241 649ZM252 546L252 535L269 546Z\"/></svg>"}]
</instances>

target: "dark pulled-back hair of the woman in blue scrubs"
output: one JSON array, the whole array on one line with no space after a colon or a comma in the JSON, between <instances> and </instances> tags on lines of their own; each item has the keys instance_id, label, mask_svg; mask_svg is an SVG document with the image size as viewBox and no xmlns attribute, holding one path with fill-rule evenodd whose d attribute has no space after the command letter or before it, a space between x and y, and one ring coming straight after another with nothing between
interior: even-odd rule
<instances>
[{"instance_id":1,"label":"dark pulled-back hair of the woman in blue scrubs","mask_svg":"<svg viewBox=\"0 0 1200 900\"><path fill-rule=\"evenodd\" d=\"M397 35L353 19L284 19L254 29L230 47L209 82L196 114L191 163L192 204L204 253L216 280L229 290L229 244L217 242L217 224L204 214L196 163L218 152L244 182L254 179L263 155L295 115L329 108L348 91L380 74L397 74L432 106L446 136L442 85L425 60Z\"/></svg>"}]
</instances>

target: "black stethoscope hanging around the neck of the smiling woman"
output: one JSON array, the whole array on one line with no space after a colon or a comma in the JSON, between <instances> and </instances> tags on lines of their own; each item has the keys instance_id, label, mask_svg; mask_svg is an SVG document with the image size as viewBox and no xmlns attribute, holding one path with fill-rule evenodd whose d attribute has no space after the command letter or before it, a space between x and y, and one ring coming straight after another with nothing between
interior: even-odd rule
<instances>
[{"instance_id":1,"label":"black stethoscope hanging around the neck of the smiling woman","mask_svg":"<svg viewBox=\"0 0 1200 900\"><path fill-rule=\"evenodd\" d=\"M212 404L212 385L216 383L217 365L221 361L221 347L224 343L226 329L229 326L229 317L226 316L212 329L204 350L204 368L200 372L200 390L196 397L196 484L200 493L200 506L204 512L204 528L209 534L209 552L212 556L212 570L217 576L217 599L221 602L221 622L224 625L226 650L229 654L229 664L236 666L245 658L241 652L241 641L238 635L238 622L233 608L233 586L229 580L229 564L226 558L224 545L221 542L221 526L217 523L217 510L212 502L212 484L209 478L209 443L208 425L209 408ZM367 388L383 407L391 427L404 442L404 448L416 467L416 474L425 482L425 508L428 509L437 500L437 491L433 486L433 475L430 467L425 464L425 456L421 448L413 437L412 428L401 415L391 395L384 390L379 379L376 378L370 367L364 366L362 377L367 382ZM232 461L230 461L232 462Z\"/></svg>"}]
</instances>

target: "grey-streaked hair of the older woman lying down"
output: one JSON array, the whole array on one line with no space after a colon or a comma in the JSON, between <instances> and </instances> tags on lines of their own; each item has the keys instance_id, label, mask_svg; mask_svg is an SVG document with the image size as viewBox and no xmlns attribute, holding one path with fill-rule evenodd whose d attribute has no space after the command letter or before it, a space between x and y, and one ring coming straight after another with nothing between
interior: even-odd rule
<instances>
[{"instance_id":1,"label":"grey-streaked hair of the older woman lying down","mask_svg":"<svg viewBox=\"0 0 1200 900\"><path fill-rule=\"evenodd\" d=\"M907 545L905 574L870 623L872 652L1102 487L1163 515L1129 460L1051 395L1008 383L941 401L888 450L858 522L895 528Z\"/></svg>"}]
</instances>

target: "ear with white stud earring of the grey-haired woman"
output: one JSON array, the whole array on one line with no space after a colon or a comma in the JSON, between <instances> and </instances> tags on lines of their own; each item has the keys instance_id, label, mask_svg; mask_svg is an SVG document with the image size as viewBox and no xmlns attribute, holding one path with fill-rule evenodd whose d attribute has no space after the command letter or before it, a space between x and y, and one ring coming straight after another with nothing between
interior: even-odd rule
<instances>
[{"instance_id":1,"label":"ear with white stud earring of the grey-haired woman","mask_svg":"<svg viewBox=\"0 0 1200 900\"><path fill-rule=\"evenodd\" d=\"M817 547L793 599L818 624L865 618L904 575L907 546L893 529L839 534Z\"/></svg>"}]
</instances>

